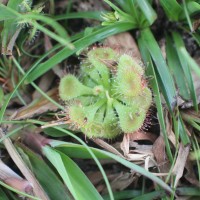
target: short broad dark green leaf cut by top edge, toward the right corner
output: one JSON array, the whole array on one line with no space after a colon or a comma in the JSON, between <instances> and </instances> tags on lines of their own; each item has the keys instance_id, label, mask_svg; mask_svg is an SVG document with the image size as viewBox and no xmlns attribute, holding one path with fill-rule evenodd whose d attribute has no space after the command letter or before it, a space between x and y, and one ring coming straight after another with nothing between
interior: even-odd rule
<instances>
[{"instance_id":1,"label":"short broad dark green leaf cut by top edge, toward the right corner","mask_svg":"<svg viewBox=\"0 0 200 200\"><path fill-rule=\"evenodd\" d=\"M169 19L175 21L179 19L182 7L176 0L160 0L160 3Z\"/></svg>"}]
</instances>

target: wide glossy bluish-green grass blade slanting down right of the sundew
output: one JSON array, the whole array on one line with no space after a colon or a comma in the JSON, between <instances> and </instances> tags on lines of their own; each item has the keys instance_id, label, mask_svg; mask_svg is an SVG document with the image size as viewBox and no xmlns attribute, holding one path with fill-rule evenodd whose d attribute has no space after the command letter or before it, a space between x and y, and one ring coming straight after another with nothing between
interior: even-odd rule
<instances>
[{"instance_id":1,"label":"wide glossy bluish-green grass blade slanting down right of the sundew","mask_svg":"<svg viewBox=\"0 0 200 200\"><path fill-rule=\"evenodd\" d=\"M174 109L176 91L168 66L166 65L161 50L149 28L141 31L141 39L155 63L156 71L159 74L160 88L162 89L169 110L172 112Z\"/></svg>"}]
</instances>

